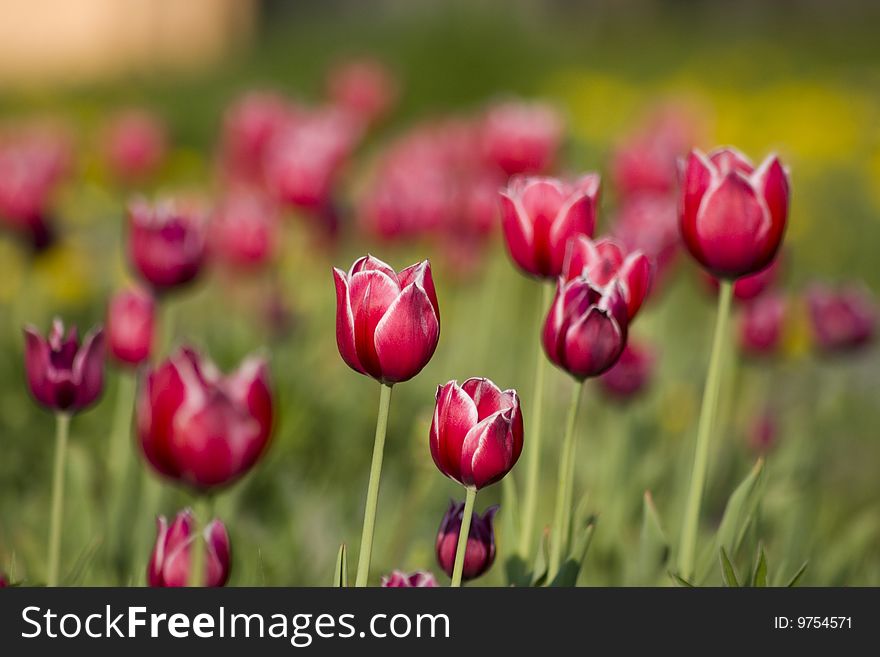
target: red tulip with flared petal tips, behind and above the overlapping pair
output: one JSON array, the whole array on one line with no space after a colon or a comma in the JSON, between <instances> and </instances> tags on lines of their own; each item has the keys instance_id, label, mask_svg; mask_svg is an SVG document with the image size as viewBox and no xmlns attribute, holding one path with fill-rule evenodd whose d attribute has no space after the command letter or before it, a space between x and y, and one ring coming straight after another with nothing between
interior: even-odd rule
<instances>
[{"instance_id":1,"label":"red tulip with flared petal tips, behind and above the overlapping pair","mask_svg":"<svg viewBox=\"0 0 880 657\"><path fill-rule=\"evenodd\" d=\"M533 276L559 276L568 241L593 235L598 197L597 174L573 184L555 178L512 178L501 192L501 226L514 262Z\"/></svg>"}]
</instances>

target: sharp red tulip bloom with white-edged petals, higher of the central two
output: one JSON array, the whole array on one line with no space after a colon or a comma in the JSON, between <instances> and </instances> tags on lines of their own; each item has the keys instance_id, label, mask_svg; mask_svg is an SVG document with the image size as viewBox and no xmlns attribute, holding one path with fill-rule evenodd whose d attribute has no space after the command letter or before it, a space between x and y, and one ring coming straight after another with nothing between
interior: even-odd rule
<instances>
[{"instance_id":1,"label":"sharp red tulip bloom with white-edged petals, higher of the central two","mask_svg":"<svg viewBox=\"0 0 880 657\"><path fill-rule=\"evenodd\" d=\"M407 381L431 360L440 310L427 260L400 273L373 256L359 258L336 283L336 344L353 370L387 384Z\"/></svg>"}]
</instances>

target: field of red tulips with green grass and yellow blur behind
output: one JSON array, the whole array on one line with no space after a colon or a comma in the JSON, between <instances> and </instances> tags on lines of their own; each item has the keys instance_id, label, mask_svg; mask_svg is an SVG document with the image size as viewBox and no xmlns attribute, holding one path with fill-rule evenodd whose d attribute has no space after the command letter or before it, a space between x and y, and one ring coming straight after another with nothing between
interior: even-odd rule
<instances>
[{"instance_id":1,"label":"field of red tulips with green grass and yellow blur behind","mask_svg":"<svg viewBox=\"0 0 880 657\"><path fill-rule=\"evenodd\" d=\"M3 586L880 585L860 9L278 4L0 89Z\"/></svg>"}]
</instances>

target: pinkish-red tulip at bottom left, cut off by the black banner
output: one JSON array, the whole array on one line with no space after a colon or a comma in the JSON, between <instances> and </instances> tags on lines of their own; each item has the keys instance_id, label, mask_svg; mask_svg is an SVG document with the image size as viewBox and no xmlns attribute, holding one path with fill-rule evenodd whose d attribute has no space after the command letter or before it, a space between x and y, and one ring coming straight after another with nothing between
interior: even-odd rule
<instances>
[{"instance_id":1,"label":"pinkish-red tulip at bottom left, cut off by the black banner","mask_svg":"<svg viewBox=\"0 0 880 657\"><path fill-rule=\"evenodd\" d=\"M202 530L202 539L193 533L195 519L189 509L177 514L171 526L164 516L156 519L156 545L147 567L147 584L187 586L190 581L192 548L205 550L204 586L223 586L229 579L231 550L226 527L212 520Z\"/></svg>"}]
</instances>

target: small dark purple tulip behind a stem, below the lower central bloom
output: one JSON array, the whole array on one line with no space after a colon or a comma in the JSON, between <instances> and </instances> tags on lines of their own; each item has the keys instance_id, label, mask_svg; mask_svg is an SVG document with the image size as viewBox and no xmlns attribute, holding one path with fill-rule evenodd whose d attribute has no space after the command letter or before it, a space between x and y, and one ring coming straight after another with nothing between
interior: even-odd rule
<instances>
[{"instance_id":1,"label":"small dark purple tulip behind a stem, below the lower central bloom","mask_svg":"<svg viewBox=\"0 0 880 657\"><path fill-rule=\"evenodd\" d=\"M470 530L468 531L467 547L465 549L464 566L461 574L462 580L476 579L485 573L495 561L495 530L492 528L492 520L498 512L498 506L490 506L480 516L477 513L471 515ZM440 523L437 533L437 563L440 568L452 577L455 566L455 549L458 544L458 536L461 533L462 514L464 502L449 502L449 509Z\"/></svg>"}]
</instances>

